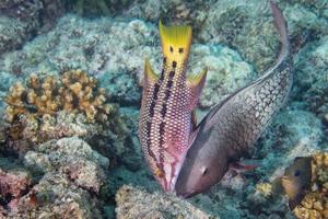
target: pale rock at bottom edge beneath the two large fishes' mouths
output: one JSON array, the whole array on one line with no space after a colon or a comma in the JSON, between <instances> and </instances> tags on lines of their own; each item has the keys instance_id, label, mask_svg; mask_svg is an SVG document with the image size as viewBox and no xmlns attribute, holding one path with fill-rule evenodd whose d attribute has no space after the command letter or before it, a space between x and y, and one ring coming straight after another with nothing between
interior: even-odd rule
<instances>
[{"instance_id":1,"label":"pale rock at bottom edge beneath the two large fishes' mouths","mask_svg":"<svg viewBox=\"0 0 328 219\"><path fill-rule=\"evenodd\" d=\"M168 194L149 194L125 185L116 194L118 219L132 218L218 218L197 209L186 200Z\"/></svg>"}]
</instances>

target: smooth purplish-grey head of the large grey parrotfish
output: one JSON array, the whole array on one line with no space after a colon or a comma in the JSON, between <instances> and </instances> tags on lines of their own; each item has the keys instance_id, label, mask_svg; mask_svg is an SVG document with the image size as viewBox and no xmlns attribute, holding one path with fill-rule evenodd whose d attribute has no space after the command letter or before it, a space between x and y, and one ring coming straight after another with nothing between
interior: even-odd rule
<instances>
[{"instance_id":1,"label":"smooth purplish-grey head of the large grey parrotfish","mask_svg":"<svg viewBox=\"0 0 328 219\"><path fill-rule=\"evenodd\" d=\"M199 137L199 136L198 136ZM200 150L195 145L213 143L219 147L218 142L206 141L198 138L192 143L192 149L188 151L183 168L179 172L175 191L178 196L188 198L196 194L202 193L215 183L218 183L227 170L227 155L224 151L221 153L211 150Z\"/></svg>"}]
</instances>

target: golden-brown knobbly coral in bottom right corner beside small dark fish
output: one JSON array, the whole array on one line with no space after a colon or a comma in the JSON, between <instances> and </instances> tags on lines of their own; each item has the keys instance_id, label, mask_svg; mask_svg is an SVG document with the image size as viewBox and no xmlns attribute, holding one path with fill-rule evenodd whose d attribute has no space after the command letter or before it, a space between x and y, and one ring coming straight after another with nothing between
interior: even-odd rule
<instances>
[{"instance_id":1,"label":"golden-brown knobbly coral in bottom right corner beside small dark fish","mask_svg":"<svg viewBox=\"0 0 328 219\"><path fill-rule=\"evenodd\" d=\"M294 209L297 218L324 219L328 216L328 152L314 154L312 163L312 191Z\"/></svg>"}]
</instances>

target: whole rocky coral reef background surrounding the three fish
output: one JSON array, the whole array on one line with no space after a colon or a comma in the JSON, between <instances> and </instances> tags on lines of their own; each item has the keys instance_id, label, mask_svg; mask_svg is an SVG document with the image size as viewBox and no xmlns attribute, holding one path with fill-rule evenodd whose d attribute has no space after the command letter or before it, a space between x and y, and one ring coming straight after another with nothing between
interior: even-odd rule
<instances>
[{"instance_id":1,"label":"whole rocky coral reef background surrounding the three fish","mask_svg":"<svg viewBox=\"0 0 328 219\"><path fill-rule=\"evenodd\" d=\"M189 199L164 194L138 138L144 59L161 69L160 19L192 26L187 72L208 67L199 117L274 64L265 0L0 0L0 218L328 218L328 1L280 0L294 83L248 159ZM297 212L263 196L296 157L325 189Z\"/></svg>"}]
</instances>

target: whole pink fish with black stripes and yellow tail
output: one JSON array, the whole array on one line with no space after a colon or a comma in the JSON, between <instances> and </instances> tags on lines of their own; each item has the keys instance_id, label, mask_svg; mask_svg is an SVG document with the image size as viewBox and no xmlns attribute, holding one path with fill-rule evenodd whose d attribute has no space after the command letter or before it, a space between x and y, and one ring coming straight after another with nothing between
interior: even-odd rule
<instances>
[{"instance_id":1,"label":"whole pink fish with black stripes and yellow tail","mask_svg":"<svg viewBox=\"0 0 328 219\"><path fill-rule=\"evenodd\" d=\"M204 85L207 68L187 76L191 26L165 26L160 21L159 28L163 67L156 74L145 59L139 139L154 177L165 192L173 192L190 136L195 136L192 115Z\"/></svg>"}]
</instances>

